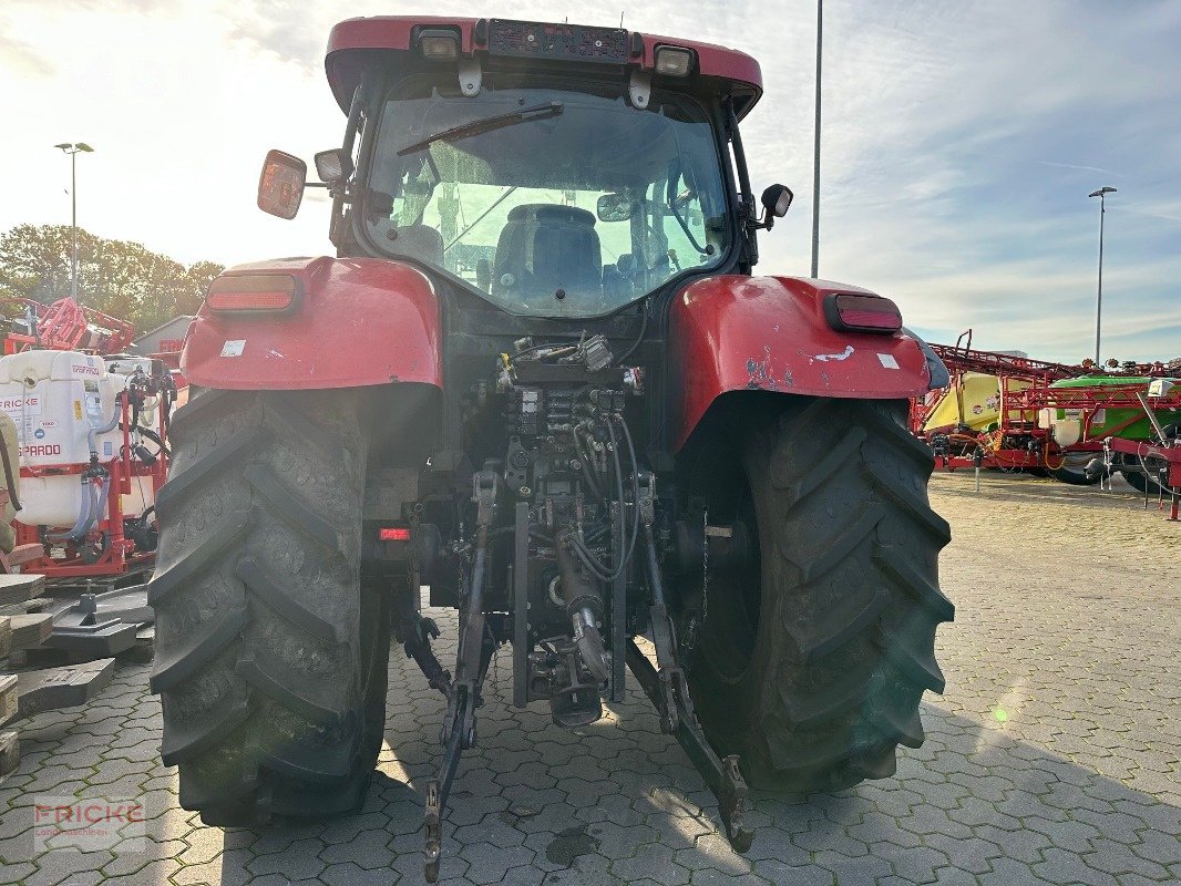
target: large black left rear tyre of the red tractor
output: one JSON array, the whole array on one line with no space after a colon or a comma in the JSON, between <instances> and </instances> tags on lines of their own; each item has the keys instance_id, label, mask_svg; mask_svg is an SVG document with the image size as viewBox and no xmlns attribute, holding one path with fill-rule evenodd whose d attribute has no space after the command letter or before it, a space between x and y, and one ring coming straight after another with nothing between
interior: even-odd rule
<instances>
[{"instance_id":1,"label":"large black left rear tyre of the red tractor","mask_svg":"<svg viewBox=\"0 0 1181 886\"><path fill-rule=\"evenodd\" d=\"M204 391L157 500L152 691L208 825L351 812L380 749L390 607L359 578L357 391Z\"/></svg>"}]
</instances>

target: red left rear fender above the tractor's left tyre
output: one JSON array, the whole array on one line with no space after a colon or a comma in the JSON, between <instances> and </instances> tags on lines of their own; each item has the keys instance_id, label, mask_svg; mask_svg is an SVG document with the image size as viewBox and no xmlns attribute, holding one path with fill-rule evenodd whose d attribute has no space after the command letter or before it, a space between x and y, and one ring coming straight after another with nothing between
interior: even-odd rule
<instances>
[{"instance_id":1,"label":"red left rear fender above the tractor's left tyre","mask_svg":"<svg viewBox=\"0 0 1181 886\"><path fill-rule=\"evenodd\" d=\"M379 259L287 259L240 265L222 278L283 274L299 298L282 314L214 313L189 326L189 382L230 390L443 386L439 305L430 280Z\"/></svg>"}]
</instances>

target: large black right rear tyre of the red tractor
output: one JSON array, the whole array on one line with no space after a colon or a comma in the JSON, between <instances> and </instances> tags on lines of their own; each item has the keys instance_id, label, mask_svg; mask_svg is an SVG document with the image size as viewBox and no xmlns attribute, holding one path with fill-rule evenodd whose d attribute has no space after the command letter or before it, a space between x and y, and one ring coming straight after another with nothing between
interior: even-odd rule
<instances>
[{"instance_id":1,"label":"large black right rear tyre of the red tractor","mask_svg":"<svg viewBox=\"0 0 1181 886\"><path fill-rule=\"evenodd\" d=\"M919 702L944 689L935 627L954 614L938 578L951 533L906 403L772 403L722 423L735 430L696 460L709 523L742 523L750 551L709 571L690 688L752 787L837 790L924 741Z\"/></svg>"}]
</instances>

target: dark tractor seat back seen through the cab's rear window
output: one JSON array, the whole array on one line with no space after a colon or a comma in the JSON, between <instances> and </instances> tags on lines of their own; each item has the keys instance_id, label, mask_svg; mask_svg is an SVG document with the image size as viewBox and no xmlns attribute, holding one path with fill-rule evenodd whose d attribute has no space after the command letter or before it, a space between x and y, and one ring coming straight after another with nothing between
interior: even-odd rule
<instances>
[{"instance_id":1,"label":"dark tractor seat back seen through the cab's rear window","mask_svg":"<svg viewBox=\"0 0 1181 886\"><path fill-rule=\"evenodd\" d=\"M492 294L534 301L557 289L600 295L602 252L586 209L556 203L514 207L501 229Z\"/></svg>"}]
</instances>

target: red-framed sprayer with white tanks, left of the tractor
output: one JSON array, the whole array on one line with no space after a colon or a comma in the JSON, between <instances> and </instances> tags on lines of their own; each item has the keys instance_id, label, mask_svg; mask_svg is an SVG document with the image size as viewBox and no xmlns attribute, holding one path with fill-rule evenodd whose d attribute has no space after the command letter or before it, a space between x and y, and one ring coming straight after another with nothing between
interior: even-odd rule
<instances>
[{"instance_id":1,"label":"red-framed sprayer with white tanks, left of the tractor","mask_svg":"<svg viewBox=\"0 0 1181 886\"><path fill-rule=\"evenodd\" d=\"M26 571L117 578L155 556L176 387L159 360L120 353L132 333L65 298L26 300L24 321L5 338L0 406L21 477L15 542L39 552Z\"/></svg>"}]
</instances>

